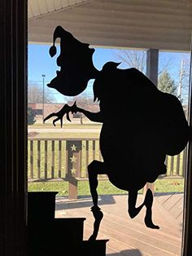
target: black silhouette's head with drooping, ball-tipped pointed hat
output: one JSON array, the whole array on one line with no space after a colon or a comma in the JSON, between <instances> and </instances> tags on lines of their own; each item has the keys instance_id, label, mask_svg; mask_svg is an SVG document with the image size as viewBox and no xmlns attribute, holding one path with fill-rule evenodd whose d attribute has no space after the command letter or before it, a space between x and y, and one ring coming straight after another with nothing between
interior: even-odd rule
<instances>
[{"instance_id":1,"label":"black silhouette's head with drooping, ball-tipped pointed hat","mask_svg":"<svg viewBox=\"0 0 192 256\"><path fill-rule=\"evenodd\" d=\"M89 79L94 78L95 68L92 61L94 49L89 44L78 41L61 26L56 27L50 56L55 56L55 41L60 38L60 55L57 64L61 67L57 76L47 86L55 88L63 95L75 96L85 90Z\"/></svg>"}]
</instances>

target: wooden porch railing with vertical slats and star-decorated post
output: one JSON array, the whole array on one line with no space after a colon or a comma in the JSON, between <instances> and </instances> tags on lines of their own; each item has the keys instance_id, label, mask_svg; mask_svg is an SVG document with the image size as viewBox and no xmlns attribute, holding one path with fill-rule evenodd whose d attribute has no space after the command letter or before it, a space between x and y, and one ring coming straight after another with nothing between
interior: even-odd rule
<instances>
[{"instance_id":1,"label":"wooden porch railing with vertical slats and star-decorated post","mask_svg":"<svg viewBox=\"0 0 192 256\"><path fill-rule=\"evenodd\" d=\"M102 161L98 139L28 138L28 182L68 181L69 197L77 196L78 180L87 180L87 166L94 159ZM181 178L185 175L185 150L167 157L167 174L164 178ZM107 179L99 175L98 179Z\"/></svg>"}]
</instances>

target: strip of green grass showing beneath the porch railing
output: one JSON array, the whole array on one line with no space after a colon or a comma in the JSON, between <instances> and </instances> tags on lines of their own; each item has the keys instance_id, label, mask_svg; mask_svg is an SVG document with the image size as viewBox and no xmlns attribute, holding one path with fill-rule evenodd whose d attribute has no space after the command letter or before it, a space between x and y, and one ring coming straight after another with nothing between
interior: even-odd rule
<instances>
[{"instance_id":1,"label":"strip of green grass showing beneath the porch railing","mask_svg":"<svg viewBox=\"0 0 192 256\"><path fill-rule=\"evenodd\" d=\"M55 191L59 192L58 196L68 196L68 183L67 182L34 182L28 183L28 191ZM155 192L183 192L184 179L158 179L155 182ZM140 191L142 192L142 191ZM126 194L127 192L120 190L113 186L109 181L100 181L98 183L98 194L111 195L111 194ZM81 181L78 183L78 195L88 196L89 183Z\"/></svg>"}]
</instances>

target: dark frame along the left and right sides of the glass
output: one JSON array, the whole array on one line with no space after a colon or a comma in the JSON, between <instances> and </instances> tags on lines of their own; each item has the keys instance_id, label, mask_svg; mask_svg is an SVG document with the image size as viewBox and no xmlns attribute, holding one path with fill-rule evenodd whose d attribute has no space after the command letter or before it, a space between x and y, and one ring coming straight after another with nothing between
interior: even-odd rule
<instances>
[{"instance_id":1,"label":"dark frame along the left and right sides of the glass","mask_svg":"<svg viewBox=\"0 0 192 256\"><path fill-rule=\"evenodd\" d=\"M26 255L27 2L0 1L0 254L6 256ZM190 113L191 110L190 93ZM182 256L192 255L191 170L190 141L185 179Z\"/></svg>"}]
</instances>

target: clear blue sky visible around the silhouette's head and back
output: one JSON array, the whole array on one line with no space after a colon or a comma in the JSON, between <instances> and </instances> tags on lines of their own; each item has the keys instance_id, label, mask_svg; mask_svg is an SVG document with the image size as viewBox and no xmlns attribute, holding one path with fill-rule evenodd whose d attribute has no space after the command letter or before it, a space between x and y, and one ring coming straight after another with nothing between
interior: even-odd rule
<instances>
[{"instance_id":1,"label":"clear blue sky visible around the silhouette's head and back","mask_svg":"<svg viewBox=\"0 0 192 256\"><path fill-rule=\"evenodd\" d=\"M29 44L28 45L28 81L33 84L42 85L42 74L46 75L46 82L49 82L56 76L56 70L59 70L59 67L56 64L55 57L50 58L49 55L50 45L38 45L38 44ZM93 55L94 66L99 70L103 67L107 61L119 62L116 56L116 49L107 49L107 48L95 48ZM175 52L159 52L159 68L165 63L169 63L168 71L171 74L174 80L178 80L179 71L181 68L181 60L187 60L190 58L189 53L175 53ZM124 66L125 68L125 66ZM92 81L93 82L93 81ZM89 86L84 93L92 93L92 82L89 82ZM63 102L63 96L59 95L56 90L50 90L50 93L54 93L57 102ZM48 89L47 89L48 92Z\"/></svg>"}]
</instances>

